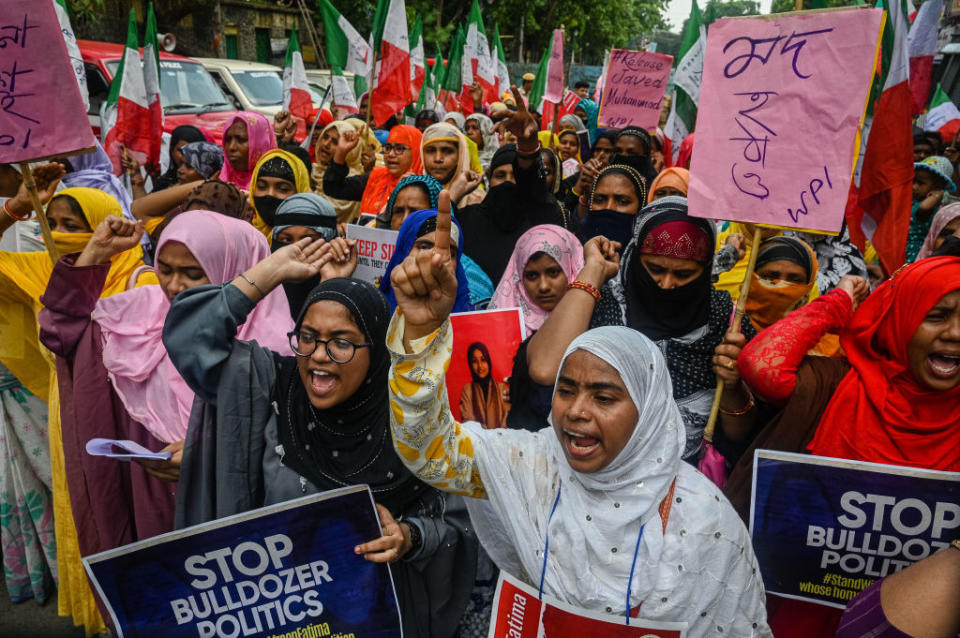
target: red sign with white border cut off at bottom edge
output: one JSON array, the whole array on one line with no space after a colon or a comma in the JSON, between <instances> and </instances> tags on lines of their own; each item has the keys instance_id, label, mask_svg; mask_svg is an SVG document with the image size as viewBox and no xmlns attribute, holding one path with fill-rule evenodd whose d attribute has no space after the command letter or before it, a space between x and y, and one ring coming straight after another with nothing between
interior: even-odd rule
<instances>
[{"instance_id":1,"label":"red sign with white border cut off at bottom edge","mask_svg":"<svg viewBox=\"0 0 960 638\"><path fill-rule=\"evenodd\" d=\"M598 614L544 596L501 571L487 638L683 638L685 622Z\"/></svg>"}]
</instances>

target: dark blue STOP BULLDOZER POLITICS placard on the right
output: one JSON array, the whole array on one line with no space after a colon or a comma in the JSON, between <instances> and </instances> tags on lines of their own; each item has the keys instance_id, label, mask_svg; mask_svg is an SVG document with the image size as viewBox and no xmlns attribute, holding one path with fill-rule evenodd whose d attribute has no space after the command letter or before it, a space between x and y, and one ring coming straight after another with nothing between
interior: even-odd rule
<instances>
[{"instance_id":1,"label":"dark blue STOP BULLDOZER POLITICS placard on the right","mask_svg":"<svg viewBox=\"0 0 960 638\"><path fill-rule=\"evenodd\" d=\"M767 593L845 607L958 528L960 473L756 451L750 534Z\"/></svg>"}]
</instances>

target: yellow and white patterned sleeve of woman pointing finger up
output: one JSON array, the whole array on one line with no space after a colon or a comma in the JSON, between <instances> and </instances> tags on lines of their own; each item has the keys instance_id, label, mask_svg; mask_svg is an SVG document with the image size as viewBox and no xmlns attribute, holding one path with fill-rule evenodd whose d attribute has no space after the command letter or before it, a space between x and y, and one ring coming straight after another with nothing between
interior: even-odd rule
<instances>
[{"instance_id":1,"label":"yellow and white patterned sleeve of woman pointing finger up","mask_svg":"<svg viewBox=\"0 0 960 638\"><path fill-rule=\"evenodd\" d=\"M437 489L484 498L474 441L450 413L445 377L453 351L450 320L431 335L403 347L404 319L393 315L387 330L390 366L390 429L404 464Z\"/></svg>"}]
</instances>

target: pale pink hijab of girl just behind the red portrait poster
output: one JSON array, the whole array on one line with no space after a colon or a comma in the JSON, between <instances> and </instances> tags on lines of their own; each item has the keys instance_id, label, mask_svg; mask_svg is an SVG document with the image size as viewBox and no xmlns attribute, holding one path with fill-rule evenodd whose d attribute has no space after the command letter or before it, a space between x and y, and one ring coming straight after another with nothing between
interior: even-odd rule
<instances>
[{"instance_id":1,"label":"pale pink hijab of girl just behind the red portrait poster","mask_svg":"<svg viewBox=\"0 0 960 638\"><path fill-rule=\"evenodd\" d=\"M489 308L520 308L526 328L524 338L540 329L548 313L533 302L523 286L523 269L527 267L536 253L546 253L554 258L567 276L573 281L583 268L583 246L576 235L560 226L541 224L520 235L517 245L510 256L510 263L503 273Z\"/></svg>"}]
</instances>

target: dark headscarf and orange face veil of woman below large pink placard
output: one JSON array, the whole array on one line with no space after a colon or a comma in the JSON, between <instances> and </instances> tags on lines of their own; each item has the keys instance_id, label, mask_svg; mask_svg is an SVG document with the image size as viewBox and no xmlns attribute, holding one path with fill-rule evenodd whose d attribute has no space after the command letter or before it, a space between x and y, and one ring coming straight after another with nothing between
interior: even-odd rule
<instances>
[{"instance_id":1,"label":"dark headscarf and orange face veil of woman below large pink placard","mask_svg":"<svg viewBox=\"0 0 960 638\"><path fill-rule=\"evenodd\" d=\"M787 260L797 264L807 273L804 284L783 281L768 281L756 270L773 261ZM817 283L817 257L813 249L796 237L771 237L760 244L757 266L750 283L747 298L747 316L758 331L783 319L788 313L807 302Z\"/></svg>"}]
</instances>

